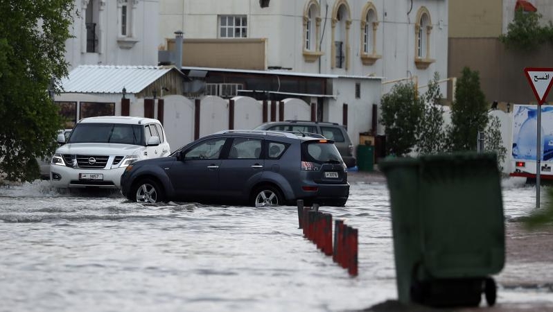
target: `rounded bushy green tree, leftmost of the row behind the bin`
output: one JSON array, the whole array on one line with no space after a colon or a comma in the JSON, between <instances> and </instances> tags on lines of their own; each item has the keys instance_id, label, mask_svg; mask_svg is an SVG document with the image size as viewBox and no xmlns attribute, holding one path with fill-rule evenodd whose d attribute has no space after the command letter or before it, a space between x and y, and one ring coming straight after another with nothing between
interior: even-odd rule
<instances>
[{"instance_id":1,"label":"rounded bushy green tree, leftmost of the row behind the bin","mask_svg":"<svg viewBox=\"0 0 553 312\"><path fill-rule=\"evenodd\" d=\"M416 144L423 101L413 83L398 83L382 97L380 123L385 126L386 148L390 155L403 156Z\"/></svg>"}]
</instances>

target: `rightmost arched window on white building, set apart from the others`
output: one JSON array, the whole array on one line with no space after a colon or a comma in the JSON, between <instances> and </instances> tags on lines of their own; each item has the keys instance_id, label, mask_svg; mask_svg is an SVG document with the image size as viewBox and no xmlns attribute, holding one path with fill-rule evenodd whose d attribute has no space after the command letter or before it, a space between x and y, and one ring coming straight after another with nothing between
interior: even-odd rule
<instances>
[{"instance_id":1,"label":"rightmost arched window on white building, set apart from the others","mask_svg":"<svg viewBox=\"0 0 553 312\"><path fill-rule=\"evenodd\" d=\"M430 55L430 34L432 33L432 20L430 12L421 7L416 14L415 24L415 64L418 69L426 69L435 62Z\"/></svg>"}]
</instances>

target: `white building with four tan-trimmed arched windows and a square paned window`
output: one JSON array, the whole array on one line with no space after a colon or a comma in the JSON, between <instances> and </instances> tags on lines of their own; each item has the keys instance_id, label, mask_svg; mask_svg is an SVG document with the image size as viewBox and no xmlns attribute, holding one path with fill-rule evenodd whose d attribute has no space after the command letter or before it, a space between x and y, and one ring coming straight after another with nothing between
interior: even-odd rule
<instances>
[{"instance_id":1,"label":"white building with four tan-trimmed arched windows and a square paned window","mask_svg":"<svg viewBox=\"0 0 553 312\"><path fill-rule=\"evenodd\" d=\"M386 80L416 76L421 85L435 71L447 78L447 0L160 0L159 21L161 38L184 32L185 50L191 40L261 39L265 68L248 69ZM257 60L255 51L243 58ZM224 59L224 53L205 51L204 56ZM184 56L185 66L202 66ZM224 67L236 68L236 63Z\"/></svg>"}]
</instances>

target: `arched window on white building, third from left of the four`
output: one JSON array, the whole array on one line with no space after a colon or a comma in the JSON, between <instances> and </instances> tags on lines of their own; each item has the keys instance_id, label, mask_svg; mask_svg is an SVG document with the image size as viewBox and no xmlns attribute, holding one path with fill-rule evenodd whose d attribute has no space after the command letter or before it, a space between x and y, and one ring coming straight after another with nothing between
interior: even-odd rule
<instances>
[{"instance_id":1,"label":"arched window on white building, third from left of the four","mask_svg":"<svg viewBox=\"0 0 553 312\"><path fill-rule=\"evenodd\" d=\"M373 3L367 2L361 11L361 60L364 65L376 62L380 55L376 53L376 31L378 15Z\"/></svg>"}]
</instances>

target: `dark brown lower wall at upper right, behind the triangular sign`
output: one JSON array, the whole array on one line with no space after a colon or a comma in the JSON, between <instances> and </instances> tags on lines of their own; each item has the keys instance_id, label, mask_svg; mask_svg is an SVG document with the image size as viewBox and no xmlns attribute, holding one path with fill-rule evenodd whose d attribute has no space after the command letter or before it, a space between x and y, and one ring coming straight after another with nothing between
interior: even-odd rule
<instances>
[{"instance_id":1,"label":"dark brown lower wall at upper right, behind the triangular sign","mask_svg":"<svg viewBox=\"0 0 553 312\"><path fill-rule=\"evenodd\" d=\"M506 50L497 38L450 38L448 73L461 75L463 67L480 72L480 87L486 100L510 103L536 103L536 98L525 77L525 67L551 67L551 45L522 52ZM547 101L552 101L550 93Z\"/></svg>"}]
</instances>

